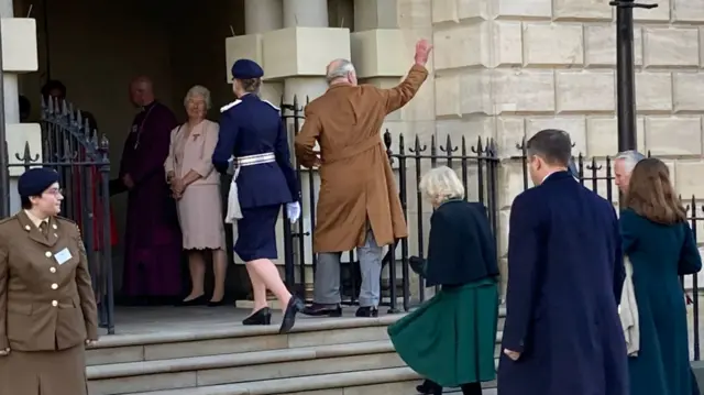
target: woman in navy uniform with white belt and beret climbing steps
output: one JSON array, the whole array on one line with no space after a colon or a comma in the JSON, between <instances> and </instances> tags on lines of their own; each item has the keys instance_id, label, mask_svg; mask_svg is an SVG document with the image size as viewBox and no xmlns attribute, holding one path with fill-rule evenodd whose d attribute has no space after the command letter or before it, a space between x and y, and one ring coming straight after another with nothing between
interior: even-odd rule
<instances>
[{"instance_id":1,"label":"woman in navy uniform with white belt and beret climbing steps","mask_svg":"<svg viewBox=\"0 0 704 395\"><path fill-rule=\"evenodd\" d=\"M272 260L277 259L275 228L282 205L295 222L300 216L300 190L279 110L258 97L263 75L262 67L250 59L239 59L232 66L238 100L220 109L212 163L220 173L227 173L232 163L235 168L226 220L237 221L234 252L246 262L254 294L253 312L242 323L271 323L268 288L284 308L279 332L286 333L304 304L288 292Z\"/></svg>"}]
</instances>

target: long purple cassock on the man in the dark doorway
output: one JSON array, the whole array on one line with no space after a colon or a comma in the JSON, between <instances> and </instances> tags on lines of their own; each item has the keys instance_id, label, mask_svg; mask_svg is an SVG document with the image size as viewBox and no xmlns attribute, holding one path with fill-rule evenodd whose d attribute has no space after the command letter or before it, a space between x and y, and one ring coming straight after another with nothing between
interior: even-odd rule
<instances>
[{"instance_id":1,"label":"long purple cassock on the man in the dark doorway","mask_svg":"<svg viewBox=\"0 0 704 395\"><path fill-rule=\"evenodd\" d=\"M154 101L134 117L124 143L120 179L129 174L124 296L172 297L182 292L182 235L176 202L166 184L164 161L178 122Z\"/></svg>"}]
</instances>

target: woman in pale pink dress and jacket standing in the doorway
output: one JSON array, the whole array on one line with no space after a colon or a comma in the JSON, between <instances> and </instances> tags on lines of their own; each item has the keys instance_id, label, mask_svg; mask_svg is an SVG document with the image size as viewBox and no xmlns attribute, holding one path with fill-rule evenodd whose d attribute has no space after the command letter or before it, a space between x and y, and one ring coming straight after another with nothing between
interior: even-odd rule
<instances>
[{"instance_id":1,"label":"woman in pale pink dress and jacket standing in the doorway","mask_svg":"<svg viewBox=\"0 0 704 395\"><path fill-rule=\"evenodd\" d=\"M220 176L212 167L218 124L206 119L210 91L202 86L188 90L184 99L188 122L172 131L169 154L164 163L167 182L177 201L178 221L188 251L191 290L183 305L206 301L206 251L212 252L215 288L208 306L220 306L224 296L227 254Z\"/></svg>"}]
</instances>

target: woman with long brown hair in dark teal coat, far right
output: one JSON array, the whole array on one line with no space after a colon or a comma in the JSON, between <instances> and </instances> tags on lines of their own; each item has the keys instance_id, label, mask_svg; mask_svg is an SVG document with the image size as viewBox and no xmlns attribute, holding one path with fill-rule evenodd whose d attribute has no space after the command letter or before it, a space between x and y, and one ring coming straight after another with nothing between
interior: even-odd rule
<instances>
[{"instance_id":1,"label":"woman with long brown hair in dark teal coat, far right","mask_svg":"<svg viewBox=\"0 0 704 395\"><path fill-rule=\"evenodd\" d=\"M620 215L623 253L632 264L640 347L628 359L634 395L693 393L686 310L680 276L702 260L686 213L659 160L640 161Z\"/></svg>"}]
</instances>

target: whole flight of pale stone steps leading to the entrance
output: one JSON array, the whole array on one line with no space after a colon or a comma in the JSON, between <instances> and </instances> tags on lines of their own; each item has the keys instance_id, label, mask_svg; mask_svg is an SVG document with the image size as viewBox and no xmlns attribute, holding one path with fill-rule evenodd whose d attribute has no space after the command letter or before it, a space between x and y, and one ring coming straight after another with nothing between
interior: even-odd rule
<instances>
[{"instance_id":1,"label":"whole flight of pale stone steps leading to the entrance","mask_svg":"<svg viewBox=\"0 0 704 395\"><path fill-rule=\"evenodd\" d=\"M278 326L232 326L105 337L88 350L89 393L416 394L420 377L394 352L386 334L399 317L301 318L287 336L277 334Z\"/></svg>"}]
</instances>

